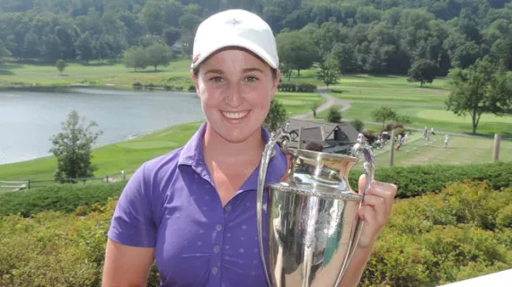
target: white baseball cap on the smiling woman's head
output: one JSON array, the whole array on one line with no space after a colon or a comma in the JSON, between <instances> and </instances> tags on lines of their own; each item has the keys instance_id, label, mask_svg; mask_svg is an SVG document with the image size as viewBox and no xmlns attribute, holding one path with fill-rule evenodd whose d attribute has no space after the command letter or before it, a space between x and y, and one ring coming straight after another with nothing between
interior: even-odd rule
<instances>
[{"instance_id":1,"label":"white baseball cap on the smiling woman's head","mask_svg":"<svg viewBox=\"0 0 512 287\"><path fill-rule=\"evenodd\" d=\"M194 39L191 68L221 48L246 48L272 68L279 66L276 38L260 16L241 9L216 13L199 24Z\"/></svg>"}]
</instances>

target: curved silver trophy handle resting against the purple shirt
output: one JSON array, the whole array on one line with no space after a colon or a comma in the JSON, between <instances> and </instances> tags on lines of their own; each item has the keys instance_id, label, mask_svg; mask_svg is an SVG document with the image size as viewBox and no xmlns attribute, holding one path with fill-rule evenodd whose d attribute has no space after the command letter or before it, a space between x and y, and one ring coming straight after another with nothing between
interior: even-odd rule
<instances>
[{"instance_id":1,"label":"curved silver trophy handle resting against the purple shirt","mask_svg":"<svg viewBox=\"0 0 512 287\"><path fill-rule=\"evenodd\" d=\"M263 193L265 190L265 179L267 178L267 170L269 169L269 161L274 152L274 146L278 143L278 140L281 137L286 137L287 141L285 141L284 145L287 145L291 140L290 135L288 134L289 123L285 125L284 128L278 128L275 133L272 133L269 138L269 142L265 144L265 148L263 150L263 156L260 162L260 173L258 175L258 189L256 191L256 228L258 230L258 243L260 245L260 257L261 264L263 265L263 272L265 273L265 277L267 279L267 283L269 286L272 286L272 282L270 280L269 268L267 265L267 260L265 258L265 251L263 249L263 232L262 232L262 210L263 210Z\"/></svg>"}]
</instances>

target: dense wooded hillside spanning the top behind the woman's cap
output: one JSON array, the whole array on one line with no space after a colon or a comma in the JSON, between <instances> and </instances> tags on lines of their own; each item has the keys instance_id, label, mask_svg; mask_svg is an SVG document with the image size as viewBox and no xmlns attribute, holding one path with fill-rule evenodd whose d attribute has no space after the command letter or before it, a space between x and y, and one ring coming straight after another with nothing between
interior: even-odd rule
<instances>
[{"instance_id":1,"label":"dense wooded hillside spanning the top behind the woman's cap","mask_svg":"<svg viewBox=\"0 0 512 287\"><path fill-rule=\"evenodd\" d=\"M284 69L299 73L328 55L337 59L342 73L407 74L411 65L427 61L437 75L446 75L487 55L509 70L511 2L3 0L0 60L116 62L129 48L155 43L171 47L172 57L190 57L194 31L202 20L218 11L243 8L269 22L279 53L287 55Z\"/></svg>"}]
</instances>

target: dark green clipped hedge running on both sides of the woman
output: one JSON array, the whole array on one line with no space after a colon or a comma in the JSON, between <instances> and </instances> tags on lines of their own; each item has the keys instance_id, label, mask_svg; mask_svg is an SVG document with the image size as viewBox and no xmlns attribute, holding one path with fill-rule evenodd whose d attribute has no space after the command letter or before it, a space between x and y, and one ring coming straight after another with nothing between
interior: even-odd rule
<instances>
[{"instance_id":1,"label":"dark green clipped hedge running on both sides of the woman","mask_svg":"<svg viewBox=\"0 0 512 287\"><path fill-rule=\"evenodd\" d=\"M349 183L358 187L361 170L352 170ZM409 167L379 168L375 179L394 183L398 198L421 196L426 192L438 192L450 182L466 179L487 180L494 190L512 187L512 162L474 165L418 165ZM58 185L33 190L0 194L0 216L20 213L29 217L44 210L76 213L81 215L94 208L93 204L105 204L109 197L119 196L126 183L94 185ZM92 206L92 207L91 207Z\"/></svg>"}]
</instances>

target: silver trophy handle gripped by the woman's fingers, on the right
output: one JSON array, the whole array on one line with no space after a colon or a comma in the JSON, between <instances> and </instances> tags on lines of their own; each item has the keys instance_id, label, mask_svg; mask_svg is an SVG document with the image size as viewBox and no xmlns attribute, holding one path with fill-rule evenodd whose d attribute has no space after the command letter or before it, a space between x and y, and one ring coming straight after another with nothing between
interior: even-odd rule
<instances>
[{"instance_id":1,"label":"silver trophy handle gripped by the woman's fingers, on the right","mask_svg":"<svg viewBox=\"0 0 512 287\"><path fill-rule=\"evenodd\" d=\"M365 200L366 191L368 190L368 187L370 187L370 183L375 179L375 156L372 152L372 148L370 144L368 144L364 138L364 135L359 134L358 135L358 143L354 145L352 148L352 155L355 157L359 157L359 155L363 153L363 156L365 158L365 163L363 164L363 167L365 169L365 187L363 188L363 194L361 197L361 201L359 203L359 206L361 206ZM336 281L335 286L339 286L341 282L341 278L343 278L343 275L349 268L350 261L352 261L352 257L354 256L354 253L356 253L356 249L358 248L358 242L359 238L361 237L361 231L363 230L364 221L361 219L358 219L358 222L356 223L356 228L354 229L354 236L351 240L351 246L349 248L348 257L347 257L347 265L343 267L343 269L340 272L340 275L338 276L338 280Z\"/></svg>"}]
</instances>

